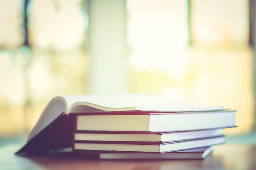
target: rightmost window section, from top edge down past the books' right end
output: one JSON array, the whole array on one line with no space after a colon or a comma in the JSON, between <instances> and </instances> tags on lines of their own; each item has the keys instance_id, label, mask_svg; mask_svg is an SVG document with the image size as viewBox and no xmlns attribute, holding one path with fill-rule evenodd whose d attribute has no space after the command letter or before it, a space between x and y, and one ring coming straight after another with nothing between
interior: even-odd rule
<instances>
[{"instance_id":1,"label":"rightmost window section, from top edge down past the books' right end","mask_svg":"<svg viewBox=\"0 0 256 170\"><path fill-rule=\"evenodd\" d=\"M236 109L238 128L227 131L248 133L255 123L249 1L193 0L191 8L191 37L197 49L192 96Z\"/></svg>"}]
</instances>

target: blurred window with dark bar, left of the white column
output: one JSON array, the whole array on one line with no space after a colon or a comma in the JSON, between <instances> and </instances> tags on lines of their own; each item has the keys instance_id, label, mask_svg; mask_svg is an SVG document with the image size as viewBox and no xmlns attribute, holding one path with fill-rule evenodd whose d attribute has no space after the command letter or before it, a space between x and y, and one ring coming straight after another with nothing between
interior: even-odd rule
<instances>
[{"instance_id":1,"label":"blurred window with dark bar, left of the white column","mask_svg":"<svg viewBox=\"0 0 256 170\"><path fill-rule=\"evenodd\" d=\"M52 96L87 92L87 4L1 0L0 8L0 135L15 135Z\"/></svg>"}]
</instances>

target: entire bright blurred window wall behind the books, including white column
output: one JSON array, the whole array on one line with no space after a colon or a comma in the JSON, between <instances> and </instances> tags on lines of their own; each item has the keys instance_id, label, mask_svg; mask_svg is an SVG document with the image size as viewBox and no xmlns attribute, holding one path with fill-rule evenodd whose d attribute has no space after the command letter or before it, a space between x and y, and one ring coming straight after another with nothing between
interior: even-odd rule
<instances>
[{"instance_id":1,"label":"entire bright blurred window wall behind the books, including white column","mask_svg":"<svg viewBox=\"0 0 256 170\"><path fill-rule=\"evenodd\" d=\"M0 137L64 94L146 93L237 110L254 131L254 0L0 0Z\"/></svg>"}]
</instances>

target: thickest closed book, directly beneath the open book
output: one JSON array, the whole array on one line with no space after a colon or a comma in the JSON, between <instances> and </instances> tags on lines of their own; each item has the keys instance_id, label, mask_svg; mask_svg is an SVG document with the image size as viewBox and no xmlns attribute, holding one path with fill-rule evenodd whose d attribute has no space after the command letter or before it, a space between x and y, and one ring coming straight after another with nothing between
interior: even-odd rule
<instances>
[{"instance_id":1,"label":"thickest closed book, directly beneath the open book","mask_svg":"<svg viewBox=\"0 0 256 170\"><path fill-rule=\"evenodd\" d=\"M77 131L189 131L234 127L236 111L101 111L74 113Z\"/></svg>"}]
</instances>

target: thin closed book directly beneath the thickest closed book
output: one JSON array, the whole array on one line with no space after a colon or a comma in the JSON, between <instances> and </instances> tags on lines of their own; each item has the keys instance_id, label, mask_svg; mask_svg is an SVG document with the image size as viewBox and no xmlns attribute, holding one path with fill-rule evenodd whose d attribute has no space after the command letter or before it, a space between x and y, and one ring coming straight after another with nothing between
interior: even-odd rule
<instances>
[{"instance_id":1,"label":"thin closed book directly beneath the thickest closed book","mask_svg":"<svg viewBox=\"0 0 256 170\"><path fill-rule=\"evenodd\" d=\"M75 131L75 141L173 142L222 135L222 129L176 132Z\"/></svg>"}]
</instances>

